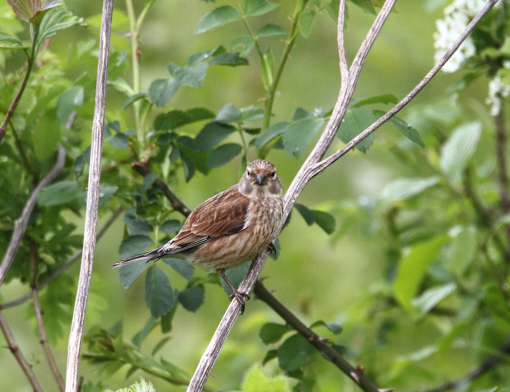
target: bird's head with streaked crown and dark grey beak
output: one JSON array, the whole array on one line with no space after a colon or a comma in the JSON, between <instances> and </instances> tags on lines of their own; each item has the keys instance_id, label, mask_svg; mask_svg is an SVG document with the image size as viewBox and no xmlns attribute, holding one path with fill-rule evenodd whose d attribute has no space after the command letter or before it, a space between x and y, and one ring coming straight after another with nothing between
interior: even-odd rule
<instances>
[{"instance_id":1,"label":"bird's head with streaked crown and dark grey beak","mask_svg":"<svg viewBox=\"0 0 510 392\"><path fill-rule=\"evenodd\" d=\"M239 181L239 192L246 196L281 196L282 184L270 161L251 162Z\"/></svg>"}]
</instances>

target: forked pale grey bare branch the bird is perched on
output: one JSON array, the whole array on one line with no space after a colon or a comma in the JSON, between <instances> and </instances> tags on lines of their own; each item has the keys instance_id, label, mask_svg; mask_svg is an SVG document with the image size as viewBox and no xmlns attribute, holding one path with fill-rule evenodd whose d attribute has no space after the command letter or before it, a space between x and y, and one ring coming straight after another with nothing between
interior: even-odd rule
<instances>
[{"instance_id":1,"label":"forked pale grey bare branch the bird is perched on","mask_svg":"<svg viewBox=\"0 0 510 392\"><path fill-rule=\"evenodd\" d=\"M390 112L386 113L382 116L378 121L376 121L371 127L367 130L363 131L357 137L355 137L352 141L347 143L343 149L339 150L332 156L327 159L323 159L326 151L329 149L331 142L338 130L338 127L341 124L341 121L344 117L344 114L347 110L349 102L351 101L352 94L354 92L354 88L356 86L356 82L359 77L359 73L361 71L361 67L367 54L374 43L375 38L377 37L382 25L388 15L390 14L393 6L395 5L396 0L387 0L381 8L381 11L377 15L372 28L370 29L365 41L363 41L354 61L352 63L351 68L348 68L345 56L345 48L344 48L344 10L345 10L345 0L342 0L340 3L340 11L338 18L338 50L340 55L340 65L342 71L342 86L338 95L338 99L336 101L335 107L333 109L333 113L328 121L326 129L324 130L321 138L315 145L314 149L306 159L306 161L301 166L298 174L294 178L292 184L285 194L285 207L283 211L283 218L280 224L279 231L281 230L283 223L285 222L286 217L288 216L290 209L296 202L299 194L305 187L305 185L317 174L321 173L327 166L335 162L338 158L346 154L349 150L351 150L356 144L358 144L363 138L367 137L375 131L379 126L384 124L389 118L391 118L395 113L397 113L400 109L402 109L405 105L409 103L409 101L428 83L428 81L441 69L441 67L448 61L448 59L453 55L453 53L457 50L460 43L469 35L469 33L473 30L476 23L494 6L497 0L489 0L487 5L483 7L483 9L478 13L478 15L473 19L471 23L469 23L466 30L463 34L457 39L457 41L452 45L452 47L448 50L445 56L436 64L432 70L427 74L427 76L418 84L418 86L413 89L394 109ZM347 74L346 74L347 72ZM278 232L279 232L278 231ZM245 279L241 282L239 286L239 291L241 292L250 292L253 286L255 285L255 281L260 274L260 271L264 265L266 258L269 255L269 251L263 252L259 255L251 264L248 274ZM203 386L205 385L209 374L212 371L212 367L220 354L220 351L227 339L228 334L230 333L235 320L239 314L241 309L241 305L237 302L237 300L233 300L230 303L227 311L225 312L220 324L218 325L216 332L214 333L207 349L205 350L202 358L197 366L195 374L191 379L191 382L188 386L187 392L198 392L201 391Z\"/></svg>"}]
</instances>

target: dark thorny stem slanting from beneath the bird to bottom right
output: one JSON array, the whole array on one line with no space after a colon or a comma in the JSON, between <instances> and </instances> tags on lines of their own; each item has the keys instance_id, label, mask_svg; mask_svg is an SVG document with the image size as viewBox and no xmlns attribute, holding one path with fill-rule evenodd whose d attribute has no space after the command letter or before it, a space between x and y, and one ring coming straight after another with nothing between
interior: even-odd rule
<instances>
[{"instance_id":1,"label":"dark thorny stem slanting from beneath the bird to bottom right","mask_svg":"<svg viewBox=\"0 0 510 392\"><path fill-rule=\"evenodd\" d=\"M366 392L379 392L379 389L363 373L363 371L352 366L342 355L327 344L325 339L315 334L310 328L304 325L294 313L288 310L278 299L264 287L260 279L255 282L254 293L258 299L264 301L275 312L280 315L285 322L300 333L313 347L315 347L324 358L331 361L347 377L351 378L359 387Z\"/></svg>"}]
</instances>

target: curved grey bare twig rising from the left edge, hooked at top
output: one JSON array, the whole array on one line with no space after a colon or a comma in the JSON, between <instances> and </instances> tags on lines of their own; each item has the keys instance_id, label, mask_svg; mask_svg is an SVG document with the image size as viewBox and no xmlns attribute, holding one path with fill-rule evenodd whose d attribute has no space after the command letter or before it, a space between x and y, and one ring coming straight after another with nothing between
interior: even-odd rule
<instances>
[{"instance_id":1,"label":"curved grey bare twig rising from the left edge, hooked at top","mask_svg":"<svg viewBox=\"0 0 510 392\"><path fill-rule=\"evenodd\" d=\"M4 282L7 272L11 267L12 261L14 260L14 256L16 256L16 253L18 252L21 239L23 238L23 235L25 235L25 231L27 230L27 226L30 220L30 215L32 214L32 210L34 209L35 204L37 203L37 195L42 188L51 184L53 180L57 178L57 176L62 171L62 168L64 167L64 163L65 150L60 145L58 148L58 156L55 166L53 166L48 174L46 174L46 176L44 176L44 178L37 184L34 191L30 195L27 204L25 204L25 208L23 208L21 216L14 222L14 230L12 232L11 241L5 253L4 259L2 260L2 265L0 265L0 285L2 285Z\"/></svg>"}]
</instances>

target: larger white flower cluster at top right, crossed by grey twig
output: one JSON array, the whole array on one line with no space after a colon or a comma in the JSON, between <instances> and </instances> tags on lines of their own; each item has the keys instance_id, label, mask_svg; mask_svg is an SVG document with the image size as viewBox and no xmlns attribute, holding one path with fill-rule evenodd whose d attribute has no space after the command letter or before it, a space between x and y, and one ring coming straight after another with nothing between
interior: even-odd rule
<instances>
[{"instance_id":1,"label":"larger white flower cluster at top right, crossed by grey twig","mask_svg":"<svg viewBox=\"0 0 510 392\"><path fill-rule=\"evenodd\" d=\"M485 0L454 0L445 8L445 18L438 19L434 33L435 61L439 61L466 29L469 22L487 3ZM464 61L475 54L475 44L468 37L442 68L445 72L455 72Z\"/></svg>"}]
</instances>

